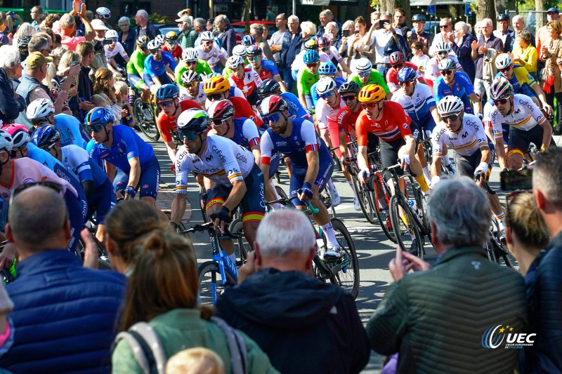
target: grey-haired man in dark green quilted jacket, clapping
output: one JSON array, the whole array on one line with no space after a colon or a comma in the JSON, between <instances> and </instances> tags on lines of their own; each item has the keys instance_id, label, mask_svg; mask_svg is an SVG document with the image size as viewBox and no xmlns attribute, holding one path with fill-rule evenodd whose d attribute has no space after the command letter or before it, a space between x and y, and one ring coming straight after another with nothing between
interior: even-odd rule
<instances>
[{"instance_id":1,"label":"grey-haired man in dark green quilted jacket, clapping","mask_svg":"<svg viewBox=\"0 0 562 374\"><path fill-rule=\"evenodd\" d=\"M430 269L398 248L388 265L395 282L367 323L372 348L379 354L399 352L396 373L451 368L513 373L518 349L483 348L483 333L491 326L507 324L521 333L527 322L523 279L490 262L483 251L490 225L488 197L469 178L441 181L427 215L437 263ZM409 269L414 274L407 274ZM503 339L504 330L499 331Z\"/></svg>"}]
</instances>

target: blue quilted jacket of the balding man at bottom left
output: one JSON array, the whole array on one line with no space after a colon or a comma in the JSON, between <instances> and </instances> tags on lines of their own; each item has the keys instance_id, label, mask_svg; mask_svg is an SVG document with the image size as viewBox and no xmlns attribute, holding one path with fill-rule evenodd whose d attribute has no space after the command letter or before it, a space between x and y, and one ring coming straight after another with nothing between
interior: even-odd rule
<instances>
[{"instance_id":1,"label":"blue quilted jacket of the balding man at bottom left","mask_svg":"<svg viewBox=\"0 0 562 374\"><path fill-rule=\"evenodd\" d=\"M44 251L18 262L6 286L15 305L8 317L13 345L0 367L13 373L110 373L110 347L126 279L86 269L66 250Z\"/></svg>"}]
</instances>

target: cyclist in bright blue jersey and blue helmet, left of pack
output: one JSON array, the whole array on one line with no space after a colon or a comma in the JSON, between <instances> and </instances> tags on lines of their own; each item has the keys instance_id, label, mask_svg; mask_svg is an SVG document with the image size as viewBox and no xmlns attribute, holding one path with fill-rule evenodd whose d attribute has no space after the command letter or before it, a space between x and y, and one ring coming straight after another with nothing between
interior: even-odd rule
<instances>
[{"instance_id":1,"label":"cyclist in bright blue jersey and blue helmet, left of pack","mask_svg":"<svg viewBox=\"0 0 562 374\"><path fill-rule=\"evenodd\" d=\"M125 200L133 199L141 189L141 200L156 208L160 165L152 147L127 126L113 125L113 115L105 108L94 108L86 115L92 134L86 151L100 164L105 161L107 174L114 175L115 191L125 191Z\"/></svg>"}]
</instances>

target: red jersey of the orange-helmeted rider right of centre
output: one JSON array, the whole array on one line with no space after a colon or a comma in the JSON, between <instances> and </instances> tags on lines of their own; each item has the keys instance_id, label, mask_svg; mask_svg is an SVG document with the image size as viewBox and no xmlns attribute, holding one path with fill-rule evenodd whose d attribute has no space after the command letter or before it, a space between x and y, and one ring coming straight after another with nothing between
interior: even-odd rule
<instances>
[{"instance_id":1,"label":"red jersey of the orange-helmeted rider right of centre","mask_svg":"<svg viewBox=\"0 0 562 374\"><path fill-rule=\"evenodd\" d=\"M365 111L361 111L355 126L357 144L360 147L367 146L367 133L373 133L385 142L393 142L404 138L405 135L412 135L410 130L412 119L404 112L402 105L398 102L385 101L382 110L383 115L379 121L371 121Z\"/></svg>"}]
</instances>

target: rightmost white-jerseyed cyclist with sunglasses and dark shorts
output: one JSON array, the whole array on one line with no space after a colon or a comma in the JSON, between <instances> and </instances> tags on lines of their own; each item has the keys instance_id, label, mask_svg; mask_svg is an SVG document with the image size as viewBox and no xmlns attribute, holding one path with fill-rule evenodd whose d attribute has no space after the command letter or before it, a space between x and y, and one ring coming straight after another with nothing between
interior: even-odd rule
<instances>
[{"instance_id":1,"label":"rightmost white-jerseyed cyclist with sunglasses and dark shorts","mask_svg":"<svg viewBox=\"0 0 562 374\"><path fill-rule=\"evenodd\" d=\"M493 129L500 167L518 169L523 166L523 155L530 143L544 151L554 146L552 126L526 95L514 94L514 88L505 78L497 78L490 88L490 99L485 105L485 123ZM507 145L507 163L504 158L502 123L509 125L509 144Z\"/></svg>"}]
</instances>

